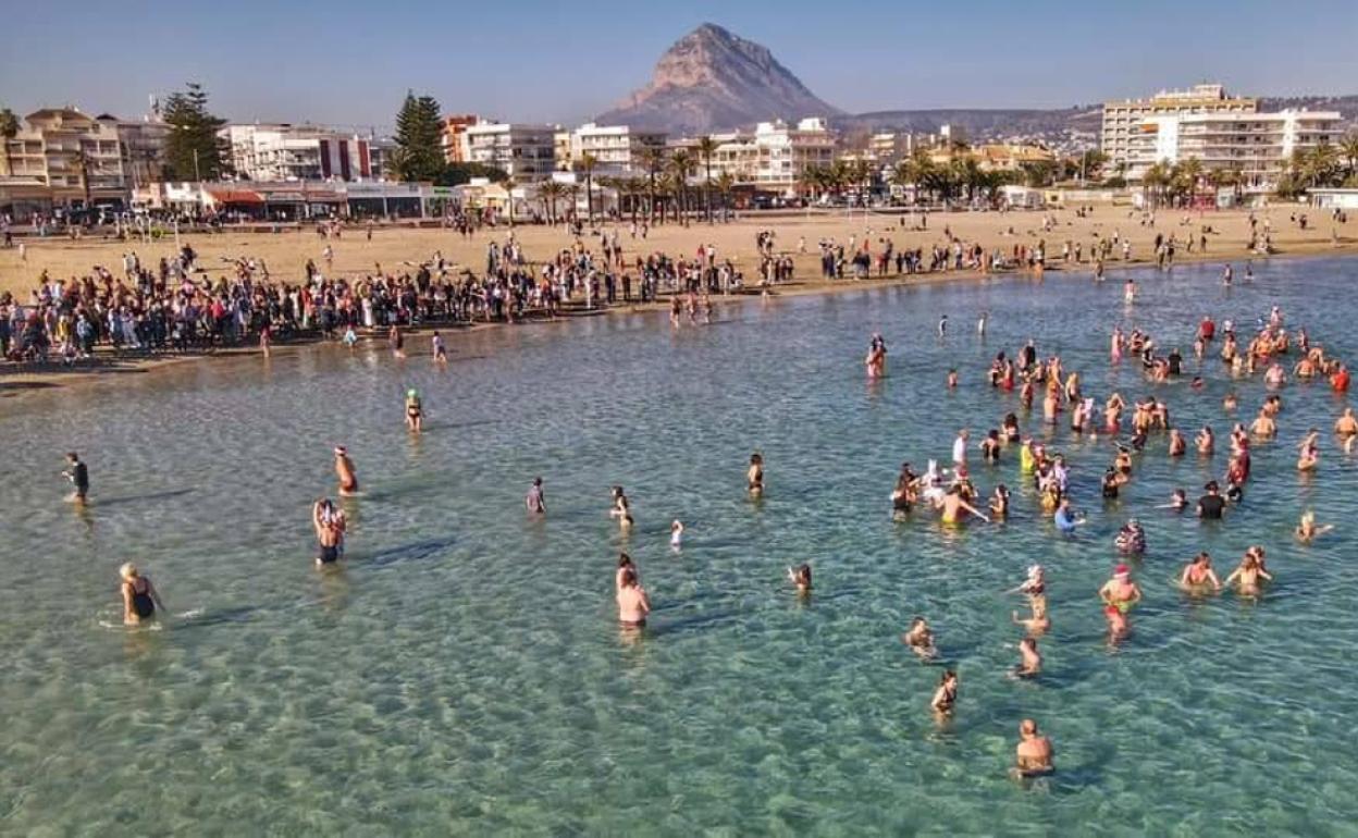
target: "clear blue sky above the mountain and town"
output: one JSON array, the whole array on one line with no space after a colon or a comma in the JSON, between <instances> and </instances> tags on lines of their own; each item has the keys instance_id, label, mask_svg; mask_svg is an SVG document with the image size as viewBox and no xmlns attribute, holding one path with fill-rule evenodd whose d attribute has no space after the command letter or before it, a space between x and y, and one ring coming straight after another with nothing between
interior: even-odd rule
<instances>
[{"instance_id":1,"label":"clear blue sky above the mountain and town","mask_svg":"<svg viewBox=\"0 0 1358 838\"><path fill-rule=\"evenodd\" d=\"M390 125L445 113L577 122L710 20L849 111L1065 107L1221 80L1358 92L1358 1L68 0L0 15L0 106L137 115L197 80L231 120ZM159 7L159 8L158 8ZM171 11L172 10L172 11ZM1289 14L1290 12L1290 14Z\"/></svg>"}]
</instances>

